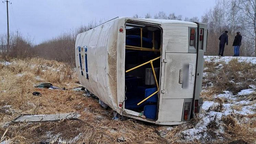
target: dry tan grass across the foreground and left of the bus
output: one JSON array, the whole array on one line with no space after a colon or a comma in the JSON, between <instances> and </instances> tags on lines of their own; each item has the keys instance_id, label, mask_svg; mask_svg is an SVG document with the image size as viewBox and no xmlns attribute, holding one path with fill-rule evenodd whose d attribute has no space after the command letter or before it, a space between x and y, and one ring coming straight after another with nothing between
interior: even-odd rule
<instances>
[{"instance_id":1,"label":"dry tan grass across the foreground and left of the bus","mask_svg":"<svg viewBox=\"0 0 256 144\"><path fill-rule=\"evenodd\" d=\"M67 65L41 58L26 60L11 60L12 64L0 64L0 136L15 143L67 142L67 143L201 143L199 140L182 141L181 131L191 129L202 120L194 118L189 123L172 126L152 125L141 121L127 119L112 120L113 110L104 110L98 100L82 96L83 92L73 90L50 90L35 88L39 82L50 82L54 86L73 88L76 84L76 73ZM213 67L216 66L213 64ZM208 67L210 67L208 65ZM226 68L225 68L226 69ZM216 84L217 82L215 82ZM206 97L218 93L217 88L209 88ZM41 97L33 96L37 91ZM211 95L212 96L212 95ZM254 97L250 97L254 99ZM215 107L220 112L225 103L223 99L215 100L220 103ZM4 107L9 105L7 107ZM10 123L20 114L54 114L78 112L80 120L44 123ZM218 140L214 130L218 125L213 119L208 125L208 133L216 138L215 142L256 142L252 131L246 134L248 128L255 129L255 115L248 125L234 125L236 116L224 118L226 125L226 140ZM241 128L242 127L242 128ZM240 131L238 131L240 129ZM6 133L5 133L6 132ZM5 134L4 134L5 133ZM233 140L233 141L232 141Z\"/></svg>"}]
</instances>

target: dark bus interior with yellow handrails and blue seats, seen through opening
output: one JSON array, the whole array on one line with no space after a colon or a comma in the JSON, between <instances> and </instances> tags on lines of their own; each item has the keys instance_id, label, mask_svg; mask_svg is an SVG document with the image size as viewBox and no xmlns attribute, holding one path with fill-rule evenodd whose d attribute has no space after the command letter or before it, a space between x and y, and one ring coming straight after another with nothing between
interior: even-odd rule
<instances>
[{"instance_id":1,"label":"dark bus interior with yellow handrails and blue seats, seen through opening","mask_svg":"<svg viewBox=\"0 0 256 144\"><path fill-rule=\"evenodd\" d=\"M156 120L162 30L127 22L125 42L125 109Z\"/></svg>"}]
</instances>

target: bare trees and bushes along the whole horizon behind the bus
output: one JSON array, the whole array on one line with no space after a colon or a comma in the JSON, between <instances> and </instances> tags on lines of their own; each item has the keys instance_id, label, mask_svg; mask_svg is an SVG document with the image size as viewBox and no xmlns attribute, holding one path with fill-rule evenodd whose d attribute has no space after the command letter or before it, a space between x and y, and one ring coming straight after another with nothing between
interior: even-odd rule
<instances>
[{"instance_id":1,"label":"bare trees and bushes along the whole horizon behind the bus","mask_svg":"<svg viewBox=\"0 0 256 144\"><path fill-rule=\"evenodd\" d=\"M154 16L146 13L144 17L135 14L135 18L152 18L152 19L175 19L183 21L201 21L208 26L208 41L206 55L218 55L219 36L228 31L229 44L225 47L225 56L232 56L234 48L232 42L236 32L241 32L243 36L240 56L256 55L256 0L216 0L215 6L198 17L182 17L175 13L166 14L159 11ZM30 39L11 34L9 54L7 54L7 36L0 35L0 56L2 58L15 57L27 58L39 56L51 60L67 62L74 66L74 47L76 35L85 32L104 21L91 21L86 26L81 26L75 30L65 32L59 37L44 41L39 45L32 45Z\"/></svg>"}]
</instances>

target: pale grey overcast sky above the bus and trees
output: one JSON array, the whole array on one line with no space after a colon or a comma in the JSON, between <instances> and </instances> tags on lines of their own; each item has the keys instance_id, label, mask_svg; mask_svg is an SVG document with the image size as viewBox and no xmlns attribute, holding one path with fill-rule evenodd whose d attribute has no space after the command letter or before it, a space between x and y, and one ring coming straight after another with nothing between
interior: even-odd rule
<instances>
[{"instance_id":1,"label":"pale grey overcast sky above the bus and trees","mask_svg":"<svg viewBox=\"0 0 256 144\"><path fill-rule=\"evenodd\" d=\"M11 0L10 32L18 30L34 44L63 32L87 25L90 21L138 14L152 17L159 11L185 17L201 16L215 0ZM6 3L0 3L0 34L7 32Z\"/></svg>"}]
</instances>

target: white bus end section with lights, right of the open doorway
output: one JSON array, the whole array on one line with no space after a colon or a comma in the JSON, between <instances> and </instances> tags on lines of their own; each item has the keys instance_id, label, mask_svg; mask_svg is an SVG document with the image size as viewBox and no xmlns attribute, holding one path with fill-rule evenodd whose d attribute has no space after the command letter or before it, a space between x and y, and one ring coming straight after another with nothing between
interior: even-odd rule
<instances>
[{"instance_id":1,"label":"white bus end section with lights, right of the open doorway","mask_svg":"<svg viewBox=\"0 0 256 144\"><path fill-rule=\"evenodd\" d=\"M200 112L203 103L200 92L207 27L202 23L184 25L163 25L165 49L156 121L161 125L176 125L190 120Z\"/></svg>"}]
</instances>

